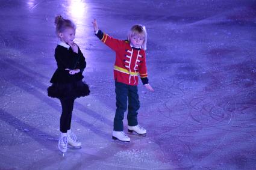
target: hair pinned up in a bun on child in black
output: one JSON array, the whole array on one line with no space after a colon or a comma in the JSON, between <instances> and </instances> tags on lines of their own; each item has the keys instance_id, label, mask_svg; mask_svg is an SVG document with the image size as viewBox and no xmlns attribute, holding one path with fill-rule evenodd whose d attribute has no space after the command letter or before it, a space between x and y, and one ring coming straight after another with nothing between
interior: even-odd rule
<instances>
[{"instance_id":1,"label":"hair pinned up in a bun on child in black","mask_svg":"<svg viewBox=\"0 0 256 170\"><path fill-rule=\"evenodd\" d=\"M55 17L55 33L58 36L58 33L63 32L66 28L73 28L76 29L75 24L69 20L69 19L64 19L61 15L58 15Z\"/></svg>"}]
</instances>

